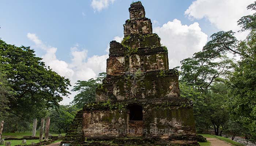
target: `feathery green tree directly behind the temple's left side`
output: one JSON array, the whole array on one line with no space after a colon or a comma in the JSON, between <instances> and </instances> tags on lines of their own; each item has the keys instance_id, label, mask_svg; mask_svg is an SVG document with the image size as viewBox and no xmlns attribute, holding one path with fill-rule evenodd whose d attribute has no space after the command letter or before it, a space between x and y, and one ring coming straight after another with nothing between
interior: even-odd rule
<instances>
[{"instance_id":1,"label":"feathery green tree directly behind the temple's left side","mask_svg":"<svg viewBox=\"0 0 256 146\"><path fill-rule=\"evenodd\" d=\"M106 73L99 73L96 79L91 78L88 81L76 82L76 85L72 91L78 92L74 97L71 104L76 105L77 108L83 108L84 104L95 101L96 88L102 83L102 80L106 77Z\"/></svg>"}]
</instances>

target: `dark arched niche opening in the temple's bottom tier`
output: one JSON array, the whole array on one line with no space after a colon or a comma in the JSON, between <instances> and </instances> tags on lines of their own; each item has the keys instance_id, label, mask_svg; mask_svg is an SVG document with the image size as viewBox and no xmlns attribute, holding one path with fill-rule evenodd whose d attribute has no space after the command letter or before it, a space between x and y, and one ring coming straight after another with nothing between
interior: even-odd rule
<instances>
[{"instance_id":1,"label":"dark arched niche opening in the temple's bottom tier","mask_svg":"<svg viewBox=\"0 0 256 146\"><path fill-rule=\"evenodd\" d=\"M129 107L130 111L130 121L142 121L143 114L142 114L142 106L140 105L132 105Z\"/></svg>"}]
</instances>

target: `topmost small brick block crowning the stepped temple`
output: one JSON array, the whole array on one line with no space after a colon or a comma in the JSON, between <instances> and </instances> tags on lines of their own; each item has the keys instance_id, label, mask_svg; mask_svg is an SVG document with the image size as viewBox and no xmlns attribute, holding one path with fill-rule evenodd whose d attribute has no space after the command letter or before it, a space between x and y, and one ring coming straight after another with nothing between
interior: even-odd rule
<instances>
[{"instance_id":1,"label":"topmost small brick block crowning the stepped temple","mask_svg":"<svg viewBox=\"0 0 256 146\"><path fill-rule=\"evenodd\" d=\"M129 8L130 20L145 17L145 9L140 1L131 4Z\"/></svg>"}]
</instances>

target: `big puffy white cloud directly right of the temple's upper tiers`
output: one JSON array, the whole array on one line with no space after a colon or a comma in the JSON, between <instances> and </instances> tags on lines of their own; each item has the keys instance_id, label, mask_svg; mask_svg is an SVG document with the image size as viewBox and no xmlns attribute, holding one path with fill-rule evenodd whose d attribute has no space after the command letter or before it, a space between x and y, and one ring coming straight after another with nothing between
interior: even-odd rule
<instances>
[{"instance_id":1,"label":"big puffy white cloud directly right of the temple's upper tiers","mask_svg":"<svg viewBox=\"0 0 256 146\"><path fill-rule=\"evenodd\" d=\"M197 22L187 26L174 19L162 27L154 27L153 32L159 35L161 43L168 49L169 68L180 66L182 59L202 50L207 42L207 35Z\"/></svg>"}]
</instances>

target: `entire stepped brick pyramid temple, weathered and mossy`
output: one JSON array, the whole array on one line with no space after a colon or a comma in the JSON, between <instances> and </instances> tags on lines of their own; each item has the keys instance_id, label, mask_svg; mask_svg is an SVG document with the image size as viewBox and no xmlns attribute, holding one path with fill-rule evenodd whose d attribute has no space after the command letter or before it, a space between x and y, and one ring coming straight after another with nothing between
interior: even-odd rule
<instances>
[{"instance_id":1,"label":"entire stepped brick pyramid temple, weathered and mossy","mask_svg":"<svg viewBox=\"0 0 256 146\"><path fill-rule=\"evenodd\" d=\"M110 42L107 76L97 88L96 102L78 112L65 141L90 146L197 145L192 103L180 97L178 71L168 67L167 48L152 33L140 1L132 3L129 12L122 43Z\"/></svg>"}]
</instances>

